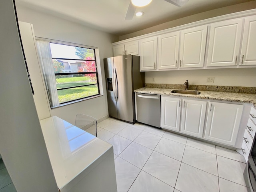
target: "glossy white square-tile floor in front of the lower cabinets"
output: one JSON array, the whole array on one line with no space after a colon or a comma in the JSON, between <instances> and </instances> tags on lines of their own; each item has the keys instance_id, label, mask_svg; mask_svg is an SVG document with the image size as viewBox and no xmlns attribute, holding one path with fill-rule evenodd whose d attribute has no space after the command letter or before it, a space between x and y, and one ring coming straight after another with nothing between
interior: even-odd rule
<instances>
[{"instance_id":1,"label":"glossy white square-tile floor in front of the lower cabinets","mask_svg":"<svg viewBox=\"0 0 256 192\"><path fill-rule=\"evenodd\" d=\"M118 192L247 192L234 150L113 118L98 127L114 146Z\"/></svg>"}]
</instances>

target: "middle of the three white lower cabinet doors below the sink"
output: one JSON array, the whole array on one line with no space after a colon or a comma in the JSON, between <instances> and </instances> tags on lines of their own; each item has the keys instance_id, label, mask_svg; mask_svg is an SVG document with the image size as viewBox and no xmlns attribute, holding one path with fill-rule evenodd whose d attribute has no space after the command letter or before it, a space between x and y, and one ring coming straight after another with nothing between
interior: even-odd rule
<instances>
[{"instance_id":1,"label":"middle of the three white lower cabinet doors below the sink","mask_svg":"<svg viewBox=\"0 0 256 192\"><path fill-rule=\"evenodd\" d=\"M183 100L180 132L202 138L206 105L206 101Z\"/></svg>"}]
</instances>

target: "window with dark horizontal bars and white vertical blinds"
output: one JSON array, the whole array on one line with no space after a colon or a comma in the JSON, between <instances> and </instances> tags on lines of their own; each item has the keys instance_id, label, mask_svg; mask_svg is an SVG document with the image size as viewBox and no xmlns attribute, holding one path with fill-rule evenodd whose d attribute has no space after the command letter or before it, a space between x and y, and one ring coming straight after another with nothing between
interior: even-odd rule
<instances>
[{"instance_id":1,"label":"window with dark horizontal bars and white vertical blinds","mask_svg":"<svg viewBox=\"0 0 256 192\"><path fill-rule=\"evenodd\" d=\"M94 48L42 40L37 45L52 108L100 94Z\"/></svg>"}]
</instances>

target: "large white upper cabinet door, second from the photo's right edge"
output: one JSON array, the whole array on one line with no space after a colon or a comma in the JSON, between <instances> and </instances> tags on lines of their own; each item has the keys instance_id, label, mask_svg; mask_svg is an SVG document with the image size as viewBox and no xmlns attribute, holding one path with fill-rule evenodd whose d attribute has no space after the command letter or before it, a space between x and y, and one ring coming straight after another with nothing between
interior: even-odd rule
<instances>
[{"instance_id":1,"label":"large white upper cabinet door, second from the photo's right edge","mask_svg":"<svg viewBox=\"0 0 256 192\"><path fill-rule=\"evenodd\" d=\"M241 44L242 19L210 26L207 66L236 66Z\"/></svg>"}]
</instances>

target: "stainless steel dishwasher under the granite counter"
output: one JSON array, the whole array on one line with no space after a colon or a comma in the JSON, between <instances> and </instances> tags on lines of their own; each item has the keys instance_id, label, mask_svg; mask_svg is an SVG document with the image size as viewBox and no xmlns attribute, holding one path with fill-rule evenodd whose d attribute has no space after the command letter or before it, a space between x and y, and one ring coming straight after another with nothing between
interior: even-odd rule
<instances>
[{"instance_id":1,"label":"stainless steel dishwasher under the granite counter","mask_svg":"<svg viewBox=\"0 0 256 192\"><path fill-rule=\"evenodd\" d=\"M160 128L160 95L136 93L137 121Z\"/></svg>"}]
</instances>

